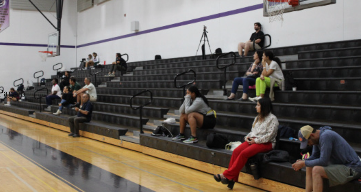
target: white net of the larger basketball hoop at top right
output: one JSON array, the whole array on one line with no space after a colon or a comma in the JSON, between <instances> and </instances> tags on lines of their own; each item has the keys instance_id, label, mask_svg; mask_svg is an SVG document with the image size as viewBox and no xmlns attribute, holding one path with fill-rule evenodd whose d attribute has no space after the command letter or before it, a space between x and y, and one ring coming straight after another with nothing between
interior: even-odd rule
<instances>
[{"instance_id":1,"label":"white net of the larger basketball hoop at top right","mask_svg":"<svg viewBox=\"0 0 361 192\"><path fill-rule=\"evenodd\" d=\"M270 23L279 20L283 22L283 12L290 1L291 0L264 0Z\"/></svg>"}]
</instances>

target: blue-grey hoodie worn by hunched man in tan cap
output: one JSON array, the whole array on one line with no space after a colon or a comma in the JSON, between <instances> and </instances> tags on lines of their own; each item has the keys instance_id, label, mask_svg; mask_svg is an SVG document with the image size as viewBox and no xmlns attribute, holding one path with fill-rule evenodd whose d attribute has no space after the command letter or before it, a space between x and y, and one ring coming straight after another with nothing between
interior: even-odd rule
<instances>
[{"instance_id":1,"label":"blue-grey hoodie worn by hunched man in tan cap","mask_svg":"<svg viewBox=\"0 0 361 192\"><path fill-rule=\"evenodd\" d=\"M305 160L305 165L313 167L338 164L361 173L360 157L347 141L332 131L331 127L325 126L319 130L319 144L313 146L312 155Z\"/></svg>"}]
</instances>

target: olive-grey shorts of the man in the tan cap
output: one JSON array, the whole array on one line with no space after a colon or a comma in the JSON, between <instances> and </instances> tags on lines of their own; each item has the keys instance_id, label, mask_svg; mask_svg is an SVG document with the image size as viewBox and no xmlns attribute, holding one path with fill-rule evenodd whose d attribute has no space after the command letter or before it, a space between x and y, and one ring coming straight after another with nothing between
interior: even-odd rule
<instances>
[{"instance_id":1,"label":"olive-grey shorts of the man in the tan cap","mask_svg":"<svg viewBox=\"0 0 361 192\"><path fill-rule=\"evenodd\" d=\"M345 165L329 165L323 168L329 178L330 187L343 185L361 177L361 173L358 173Z\"/></svg>"}]
</instances>

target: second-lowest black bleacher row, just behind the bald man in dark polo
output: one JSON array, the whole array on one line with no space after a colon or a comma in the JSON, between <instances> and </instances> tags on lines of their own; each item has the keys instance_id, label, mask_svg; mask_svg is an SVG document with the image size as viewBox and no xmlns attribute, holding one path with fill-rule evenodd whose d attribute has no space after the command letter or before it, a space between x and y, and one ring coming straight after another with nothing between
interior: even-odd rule
<instances>
[{"instance_id":1,"label":"second-lowest black bleacher row, just behind the bald man in dark polo","mask_svg":"<svg viewBox=\"0 0 361 192\"><path fill-rule=\"evenodd\" d=\"M58 106L51 106L52 113L55 113L57 110L58 110ZM67 109L67 108L63 108L62 113L71 116L77 115L77 112L74 109ZM148 118L142 118L142 122L140 122L139 116L131 116L121 113L111 113L110 111L109 113L102 111L93 111L92 119L101 122L108 122L108 123L120 124L125 126L131 126L131 127L139 127L140 123L145 125L149 121Z\"/></svg>"}]
</instances>

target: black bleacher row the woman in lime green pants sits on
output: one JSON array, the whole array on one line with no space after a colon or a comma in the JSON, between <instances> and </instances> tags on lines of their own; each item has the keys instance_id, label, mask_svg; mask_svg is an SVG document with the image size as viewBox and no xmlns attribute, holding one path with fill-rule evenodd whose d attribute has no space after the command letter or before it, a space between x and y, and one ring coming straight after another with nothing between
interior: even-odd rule
<instances>
[{"instance_id":1,"label":"black bleacher row the woman in lime green pants sits on","mask_svg":"<svg viewBox=\"0 0 361 192\"><path fill-rule=\"evenodd\" d=\"M231 90L227 90L230 95ZM242 97L243 91L239 89L236 99ZM329 105L355 105L361 103L361 91L275 91L275 101L283 103L307 103L307 104L329 104ZM255 90L248 91L249 97L255 97ZM269 92L266 91L266 97Z\"/></svg>"}]
</instances>

